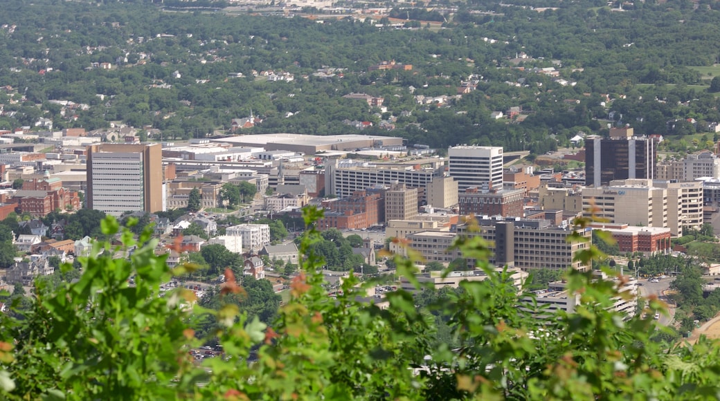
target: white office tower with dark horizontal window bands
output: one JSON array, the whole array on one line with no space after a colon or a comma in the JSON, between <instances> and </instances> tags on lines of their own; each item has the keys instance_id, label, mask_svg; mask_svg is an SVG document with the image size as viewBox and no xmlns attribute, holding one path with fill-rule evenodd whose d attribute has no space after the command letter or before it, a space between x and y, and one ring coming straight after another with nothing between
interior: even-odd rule
<instances>
[{"instance_id":1,"label":"white office tower with dark horizontal window bands","mask_svg":"<svg viewBox=\"0 0 720 401\"><path fill-rule=\"evenodd\" d=\"M454 146L448 149L449 174L459 191L470 187L503 189L503 148Z\"/></svg>"}]
</instances>

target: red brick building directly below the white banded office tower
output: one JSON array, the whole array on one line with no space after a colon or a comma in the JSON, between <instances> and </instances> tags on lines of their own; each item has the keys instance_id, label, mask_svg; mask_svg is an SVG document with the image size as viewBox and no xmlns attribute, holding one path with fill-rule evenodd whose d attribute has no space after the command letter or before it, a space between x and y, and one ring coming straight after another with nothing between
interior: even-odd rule
<instances>
[{"instance_id":1,"label":"red brick building directly below the white banded office tower","mask_svg":"<svg viewBox=\"0 0 720 401\"><path fill-rule=\"evenodd\" d=\"M523 198L523 189L483 192L471 187L457 195L459 213L464 216L523 217Z\"/></svg>"}]
</instances>

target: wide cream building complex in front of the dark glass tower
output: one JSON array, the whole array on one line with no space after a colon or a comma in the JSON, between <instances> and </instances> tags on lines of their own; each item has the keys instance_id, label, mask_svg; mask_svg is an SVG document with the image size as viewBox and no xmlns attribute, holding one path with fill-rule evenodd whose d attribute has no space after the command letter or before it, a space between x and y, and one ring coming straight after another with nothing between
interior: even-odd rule
<instances>
[{"instance_id":1,"label":"wide cream building complex in front of the dark glass tower","mask_svg":"<svg viewBox=\"0 0 720 401\"><path fill-rule=\"evenodd\" d=\"M606 187L584 188L582 208L585 216L594 214L630 226L666 227L672 236L682 236L683 227L703 225L703 184L616 180Z\"/></svg>"}]
</instances>

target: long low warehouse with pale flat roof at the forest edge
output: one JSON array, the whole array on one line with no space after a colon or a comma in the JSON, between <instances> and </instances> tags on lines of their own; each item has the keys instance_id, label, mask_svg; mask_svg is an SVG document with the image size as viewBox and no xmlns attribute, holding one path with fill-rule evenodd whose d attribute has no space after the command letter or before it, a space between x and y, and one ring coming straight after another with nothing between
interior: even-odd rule
<instances>
[{"instance_id":1,"label":"long low warehouse with pale flat roof at the forest edge","mask_svg":"<svg viewBox=\"0 0 720 401\"><path fill-rule=\"evenodd\" d=\"M305 155L316 155L323 150L355 150L372 147L402 147L400 137L379 135L305 135L305 134L256 134L211 139L235 147L264 147L266 150L290 150Z\"/></svg>"}]
</instances>

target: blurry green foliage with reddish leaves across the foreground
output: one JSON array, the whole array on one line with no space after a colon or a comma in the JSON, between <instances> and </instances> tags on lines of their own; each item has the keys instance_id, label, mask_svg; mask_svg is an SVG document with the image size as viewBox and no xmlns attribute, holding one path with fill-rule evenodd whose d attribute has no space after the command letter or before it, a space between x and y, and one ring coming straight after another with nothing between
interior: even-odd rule
<instances>
[{"instance_id":1,"label":"blurry green foliage with reddish leaves across the foreground","mask_svg":"<svg viewBox=\"0 0 720 401\"><path fill-rule=\"evenodd\" d=\"M319 213L305 211L308 223ZM120 230L107 218L104 234ZM125 246L135 244L122 229ZM55 290L36 288L31 310L1 316L0 397L9 400L284 400L284 399L704 399L717 397L718 348L709 341L676 347L650 341L654 321L623 321L607 310L620 296L616 284L568 272L568 288L582 298L575 313L545 320L517 308L506 273L487 264L478 237L454 246L475 259L489 279L464 282L433 305L454 344L433 346L436 319L419 313L410 293L387 294L386 309L358 299L372 282L355 277L328 297L307 231L300 243L302 274L292 299L267 327L238 306L216 311L194 303L188 290L159 295L159 285L192 265L168 269L153 253L149 232L129 258L112 259L96 245L82 260L80 280ZM575 240L580 240L577 236ZM100 254L104 249L105 252ZM578 254L600 259L597 249ZM397 271L417 287L412 259L395 257ZM135 287L127 280L135 275ZM243 295L231 270L223 295ZM524 296L524 295L522 295ZM657 299L649 308L664 310ZM194 316L212 313L225 351L202 367L188 351L199 346Z\"/></svg>"}]
</instances>

